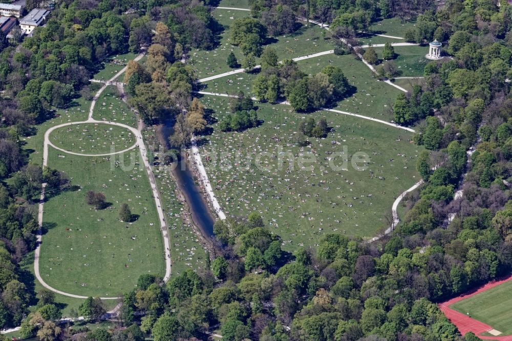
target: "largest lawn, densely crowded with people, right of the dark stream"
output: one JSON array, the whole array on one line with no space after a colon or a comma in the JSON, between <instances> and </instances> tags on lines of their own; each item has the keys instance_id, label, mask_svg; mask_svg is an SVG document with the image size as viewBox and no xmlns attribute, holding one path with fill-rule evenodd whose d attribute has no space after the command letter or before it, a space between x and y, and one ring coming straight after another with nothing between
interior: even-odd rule
<instances>
[{"instance_id":1,"label":"largest lawn, densely crowded with people, right of the dark stream","mask_svg":"<svg viewBox=\"0 0 512 341\"><path fill-rule=\"evenodd\" d=\"M205 96L201 100L218 119L228 111L227 98ZM297 125L307 115L283 104L258 105L259 118L264 121L261 126L243 133L223 133L214 124L214 133L205 137L210 143L201 153L226 214L260 212L271 219L267 226L283 238L287 250L313 246L324 233L374 236L384 226L383 215L391 211L394 198L419 179L415 164L421 148L411 143L408 132L317 112L310 115L316 119L325 116L334 131L326 139L311 139L310 146L300 147L295 143ZM338 169L329 166L329 162L340 165L345 160L333 155L344 145L349 155L364 152L370 157L366 171L356 171L350 163L347 170L343 165ZM270 153L258 163L272 166L270 171L255 166L254 158L260 152ZM293 155L291 168L290 161L278 159L288 153ZM316 162L302 168L296 162L298 156L314 157ZM250 164L247 158L251 158Z\"/></svg>"}]
</instances>

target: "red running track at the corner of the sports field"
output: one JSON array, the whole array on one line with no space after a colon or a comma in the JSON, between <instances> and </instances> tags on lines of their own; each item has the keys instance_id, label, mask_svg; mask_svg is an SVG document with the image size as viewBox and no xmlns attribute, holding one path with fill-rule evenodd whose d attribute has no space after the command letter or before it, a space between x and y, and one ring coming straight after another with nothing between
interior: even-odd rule
<instances>
[{"instance_id":1,"label":"red running track at the corner of the sports field","mask_svg":"<svg viewBox=\"0 0 512 341\"><path fill-rule=\"evenodd\" d=\"M459 332L464 335L467 332L473 332L475 335L477 335L479 338L484 340L498 340L498 341L512 341L512 335L507 336L482 336L481 333L484 333L486 331L489 331L493 329L493 327L486 325L483 322L480 322L474 318L471 318L470 316L467 316L465 314L462 314L456 310L453 310L450 308L450 306L456 302L462 301L467 299L468 297L477 295L481 292L484 292L486 290L489 290L490 288L494 288L502 283L508 282L512 280L512 275L508 276L505 279L499 280L499 281L493 281L489 282L480 288L478 288L476 291L473 291L468 294L460 295L458 297L454 297L453 299L438 304L439 309L446 315L446 317L459 329Z\"/></svg>"}]
</instances>

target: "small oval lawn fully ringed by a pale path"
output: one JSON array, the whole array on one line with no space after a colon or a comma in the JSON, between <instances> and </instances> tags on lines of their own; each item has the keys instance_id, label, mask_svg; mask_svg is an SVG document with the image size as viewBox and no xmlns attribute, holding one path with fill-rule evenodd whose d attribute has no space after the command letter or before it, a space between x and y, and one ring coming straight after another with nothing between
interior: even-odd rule
<instances>
[{"instance_id":1,"label":"small oval lawn fully ringed by a pale path","mask_svg":"<svg viewBox=\"0 0 512 341\"><path fill-rule=\"evenodd\" d=\"M108 154L133 146L135 136L126 128L112 124L81 123L57 128L51 133L50 141L74 153Z\"/></svg>"}]
</instances>

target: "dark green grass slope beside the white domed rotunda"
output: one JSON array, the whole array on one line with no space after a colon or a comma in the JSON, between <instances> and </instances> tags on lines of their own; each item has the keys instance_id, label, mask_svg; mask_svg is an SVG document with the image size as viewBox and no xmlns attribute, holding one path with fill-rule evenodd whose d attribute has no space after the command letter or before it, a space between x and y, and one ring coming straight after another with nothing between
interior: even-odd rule
<instances>
[{"instance_id":1,"label":"dark green grass slope beside the white domed rotunda","mask_svg":"<svg viewBox=\"0 0 512 341\"><path fill-rule=\"evenodd\" d=\"M377 55L382 59L382 49L375 48ZM393 59L396 67L403 77L423 76L423 69L429 62L425 54L429 53L429 48L424 46L395 46L396 58Z\"/></svg>"}]
</instances>

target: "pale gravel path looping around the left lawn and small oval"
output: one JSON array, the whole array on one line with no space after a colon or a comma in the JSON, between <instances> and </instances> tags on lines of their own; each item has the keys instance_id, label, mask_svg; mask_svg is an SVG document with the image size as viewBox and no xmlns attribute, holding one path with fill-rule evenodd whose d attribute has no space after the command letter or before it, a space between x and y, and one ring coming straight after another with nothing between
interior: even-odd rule
<instances>
[{"instance_id":1,"label":"pale gravel path looping around the left lawn and small oval","mask_svg":"<svg viewBox=\"0 0 512 341\"><path fill-rule=\"evenodd\" d=\"M143 56L144 56L143 54L139 54L134 60L135 61L140 60ZM55 129L58 129L59 127L63 127L63 126L67 126L67 125L72 125L72 124L98 123L98 124L117 125L117 126L125 128L127 130L130 130L134 134L137 142L131 148L127 148L124 151L113 152L113 153L109 153L109 154L94 154L94 155L91 155L91 154L73 153L73 152L70 152L70 151L63 150L62 148L57 148L57 150L65 152L65 153L68 153L68 154L80 155L80 156L106 156L106 155L114 155L114 154L126 152L126 151L131 150L132 148L137 147L137 146L139 147L139 151L140 151L140 154L142 156L142 161L144 163L144 167L146 168L147 176L148 176L148 179L150 180L151 189L153 191L153 197L155 199L155 205L157 206L158 218L160 219L160 229L162 231L162 237L163 237L163 242L164 242L164 251L165 251L165 276L164 276L163 280L164 280L164 282L166 282L169 279L170 274L171 274L171 262L170 262L170 253L169 253L169 236L168 236L167 224L165 223L165 218L164 218L164 215L163 215L162 204L160 202L160 195L158 193L158 187L157 187L156 181L155 181L155 176L154 176L153 171L151 169L150 163L147 160L147 152L146 152L146 148L144 146L144 141L142 140L142 133L141 133L140 130L135 129L134 127L131 127L131 126L126 125L126 124L112 122L112 121L98 121L98 120L93 118L94 106L96 105L96 101L98 100L99 96L106 89L106 87L108 87L109 84L113 84L114 80L117 77L119 77L124 71L126 71L126 67L124 67L121 71L119 71L109 81L106 81L105 84L103 85L103 87L101 87L101 89L98 90L98 92L96 93L96 95L94 96L94 98L93 98L93 100L91 102L91 109L89 110L89 118L86 121L69 122L69 123L58 124L56 126L51 127L50 129L48 129L45 132L45 142L44 142L44 148L43 148L42 166L46 167L48 165L48 146L51 145L52 147L55 147L50 142L49 136L50 136L50 134ZM139 128L140 128L140 125L139 125ZM41 285L44 286L45 288L47 288L48 290L51 290L51 291L56 292L56 293L59 293L61 295L65 295L65 296L69 296L69 297L74 297L76 299L87 299L88 296L75 295L75 294L71 294L71 293L68 293L68 292L63 292L63 291L57 290L57 289L49 286L41 278L41 275L39 273L39 256L40 256L41 243L42 243L42 215L43 215L43 212L44 212L45 189L46 189L46 183L42 184L41 197L40 197L40 201L39 201L39 211L38 211L38 215L37 215L38 223L39 223L39 231L37 233L37 248L35 249L35 254L34 254L34 272L35 272L35 276L36 276L37 280L41 283ZM117 297L100 297L100 299L101 300L116 300ZM114 308L110 312L111 313L114 312L116 310L116 308Z\"/></svg>"}]
</instances>

